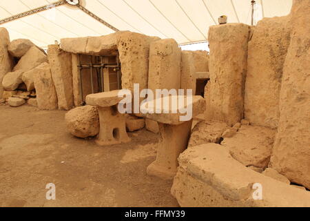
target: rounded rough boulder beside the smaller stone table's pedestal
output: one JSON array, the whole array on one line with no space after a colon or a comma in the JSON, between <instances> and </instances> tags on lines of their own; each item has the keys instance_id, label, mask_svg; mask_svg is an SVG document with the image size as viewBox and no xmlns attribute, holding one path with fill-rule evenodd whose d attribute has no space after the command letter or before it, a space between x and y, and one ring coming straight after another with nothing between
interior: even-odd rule
<instances>
[{"instance_id":1,"label":"rounded rough boulder beside the smaller stone table's pedestal","mask_svg":"<svg viewBox=\"0 0 310 221\"><path fill-rule=\"evenodd\" d=\"M80 106L65 114L68 131L76 137L93 137L99 133L99 114L95 106Z\"/></svg>"}]
</instances>

